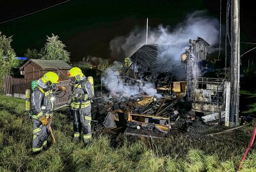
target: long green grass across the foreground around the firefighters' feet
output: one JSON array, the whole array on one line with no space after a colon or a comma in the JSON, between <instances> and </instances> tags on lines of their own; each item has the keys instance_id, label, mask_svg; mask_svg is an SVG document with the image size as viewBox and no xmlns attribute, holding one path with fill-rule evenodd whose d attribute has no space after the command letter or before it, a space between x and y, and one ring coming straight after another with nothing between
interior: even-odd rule
<instances>
[{"instance_id":1,"label":"long green grass across the foreground around the firefighters' feet","mask_svg":"<svg viewBox=\"0 0 256 172\"><path fill-rule=\"evenodd\" d=\"M85 148L82 142L72 143L72 123L65 111L58 111L52 121L57 143L31 155L32 124L24 104L22 99L0 95L0 171L236 171L253 128L205 139L186 133L164 140L124 138L115 148L109 134L94 132ZM255 167L253 150L241 171Z\"/></svg>"}]
</instances>

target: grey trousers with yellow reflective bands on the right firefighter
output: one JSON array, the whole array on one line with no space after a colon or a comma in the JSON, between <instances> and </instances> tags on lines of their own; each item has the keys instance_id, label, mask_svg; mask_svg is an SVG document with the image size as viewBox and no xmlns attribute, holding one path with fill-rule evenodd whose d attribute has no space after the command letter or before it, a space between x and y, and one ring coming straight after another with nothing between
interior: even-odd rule
<instances>
[{"instance_id":1,"label":"grey trousers with yellow reflective bands on the right firefighter","mask_svg":"<svg viewBox=\"0 0 256 172\"><path fill-rule=\"evenodd\" d=\"M91 106L79 110L71 110L74 122L74 138L83 134L84 143L88 143L92 138L91 128Z\"/></svg>"}]
</instances>

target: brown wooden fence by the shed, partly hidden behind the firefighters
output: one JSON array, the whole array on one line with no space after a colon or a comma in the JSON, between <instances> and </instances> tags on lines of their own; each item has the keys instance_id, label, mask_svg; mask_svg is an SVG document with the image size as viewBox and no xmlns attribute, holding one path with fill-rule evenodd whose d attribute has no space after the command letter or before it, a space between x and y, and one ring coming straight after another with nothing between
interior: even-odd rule
<instances>
[{"instance_id":1,"label":"brown wooden fence by the shed, partly hidden behind the firefighters","mask_svg":"<svg viewBox=\"0 0 256 172\"><path fill-rule=\"evenodd\" d=\"M33 80L28 80L24 78L12 78L12 76L4 76L4 92L7 96L19 97L21 99L25 99L26 89L31 89L31 82ZM66 94L64 92L59 94L56 99L56 106L61 106L70 101L70 91L71 86L69 85L69 81L61 81L58 83L59 86L64 86L66 88Z\"/></svg>"}]
</instances>

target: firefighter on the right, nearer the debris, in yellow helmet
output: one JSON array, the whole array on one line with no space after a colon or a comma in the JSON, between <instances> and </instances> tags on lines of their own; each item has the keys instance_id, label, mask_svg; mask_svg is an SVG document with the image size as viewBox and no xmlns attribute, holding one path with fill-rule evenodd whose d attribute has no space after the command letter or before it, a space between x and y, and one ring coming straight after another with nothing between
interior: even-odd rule
<instances>
[{"instance_id":1,"label":"firefighter on the right, nearer the debris, in yellow helmet","mask_svg":"<svg viewBox=\"0 0 256 172\"><path fill-rule=\"evenodd\" d=\"M73 117L74 141L79 141L83 134L84 145L88 145L92 138L91 129L91 101L93 98L92 84L83 75L81 69L72 68L68 71L70 83L72 85L72 101L70 103L70 112Z\"/></svg>"}]
</instances>

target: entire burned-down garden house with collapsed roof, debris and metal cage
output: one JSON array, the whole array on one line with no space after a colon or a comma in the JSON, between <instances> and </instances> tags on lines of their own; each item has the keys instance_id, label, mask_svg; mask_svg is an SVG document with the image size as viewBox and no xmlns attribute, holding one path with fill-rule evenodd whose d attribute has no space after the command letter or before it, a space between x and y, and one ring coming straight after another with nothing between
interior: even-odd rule
<instances>
[{"instance_id":1,"label":"entire burned-down garden house with collapsed roof, debris and metal cage","mask_svg":"<svg viewBox=\"0 0 256 172\"><path fill-rule=\"evenodd\" d=\"M202 38L189 43L177 59L169 56L168 45L143 45L129 57L129 68L109 73L113 80L106 85L113 99L100 110L108 111L104 126L125 125L125 134L158 137L194 121L198 113L205 122L225 114L225 80L203 77L214 76L209 44Z\"/></svg>"}]
</instances>

